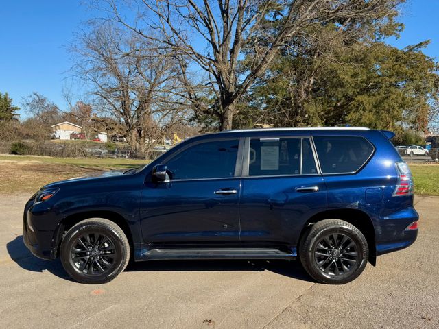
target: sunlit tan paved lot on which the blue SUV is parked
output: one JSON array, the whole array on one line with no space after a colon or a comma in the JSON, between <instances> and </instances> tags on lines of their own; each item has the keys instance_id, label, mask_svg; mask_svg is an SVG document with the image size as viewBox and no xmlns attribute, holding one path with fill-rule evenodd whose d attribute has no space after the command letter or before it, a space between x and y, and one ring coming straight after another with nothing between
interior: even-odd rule
<instances>
[{"instance_id":1,"label":"sunlit tan paved lot on which the blue SUV is parked","mask_svg":"<svg viewBox=\"0 0 439 329\"><path fill-rule=\"evenodd\" d=\"M439 328L439 197L416 197L412 247L343 286L241 260L139 263L93 286L25 249L29 196L0 196L0 328Z\"/></svg>"}]
</instances>

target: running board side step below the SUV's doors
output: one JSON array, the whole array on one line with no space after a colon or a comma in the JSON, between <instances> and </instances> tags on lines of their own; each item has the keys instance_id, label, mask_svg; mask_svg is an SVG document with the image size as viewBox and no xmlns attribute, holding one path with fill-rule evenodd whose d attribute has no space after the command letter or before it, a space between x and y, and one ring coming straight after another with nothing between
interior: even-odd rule
<instances>
[{"instance_id":1,"label":"running board side step below the SUV's doors","mask_svg":"<svg viewBox=\"0 0 439 329\"><path fill-rule=\"evenodd\" d=\"M275 248L161 248L142 254L144 260L159 259L294 259L296 250L284 252Z\"/></svg>"}]
</instances>

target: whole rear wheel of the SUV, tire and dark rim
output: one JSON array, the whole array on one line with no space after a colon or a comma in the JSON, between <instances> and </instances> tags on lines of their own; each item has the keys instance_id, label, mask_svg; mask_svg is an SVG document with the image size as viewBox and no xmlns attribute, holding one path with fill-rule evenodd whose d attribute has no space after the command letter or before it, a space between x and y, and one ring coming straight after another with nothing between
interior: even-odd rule
<instances>
[{"instance_id":1,"label":"whole rear wheel of the SUV, tire and dark rim","mask_svg":"<svg viewBox=\"0 0 439 329\"><path fill-rule=\"evenodd\" d=\"M302 237L299 252L309 275L326 284L355 280L364 271L369 256L364 235L340 219L325 219L314 224Z\"/></svg>"}]
</instances>

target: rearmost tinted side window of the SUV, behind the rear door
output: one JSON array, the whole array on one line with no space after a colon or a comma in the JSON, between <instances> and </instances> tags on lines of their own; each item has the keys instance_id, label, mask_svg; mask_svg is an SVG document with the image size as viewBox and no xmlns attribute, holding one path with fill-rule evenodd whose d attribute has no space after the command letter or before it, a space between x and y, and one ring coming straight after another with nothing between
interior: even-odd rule
<instances>
[{"instance_id":1,"label":"rearmost tinted side window of the SUV, behind the rear door","mask_svg":"<svg viewBox=\"0 0 439 329\"><path fill-rule=\"evenodd\" d=\"M372 144L359 136L316 136L313 139L322 173L353 173L374 150Z\"/></svg>"}]
</instances>

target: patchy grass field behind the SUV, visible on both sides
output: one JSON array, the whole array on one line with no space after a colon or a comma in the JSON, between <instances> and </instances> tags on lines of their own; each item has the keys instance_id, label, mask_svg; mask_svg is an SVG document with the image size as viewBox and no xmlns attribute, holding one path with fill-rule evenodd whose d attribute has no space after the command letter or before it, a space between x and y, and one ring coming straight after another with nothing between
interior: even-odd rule
<instances>
[{"instance_id":1,"label":"patchy grass field behind the SUV, visible on both sides","mask_svg":"<svg viewBox=\"0 0 439 329\"><path fill-rule=\"evenodd\" d=\"M0 155L0 194L34 192L57 180L97 171L128 169L146 164L145 160L112 158L51 158L48 156ZM410 164L415 193L439 195L439 165Z\"/></svg>"}]
</instances>

